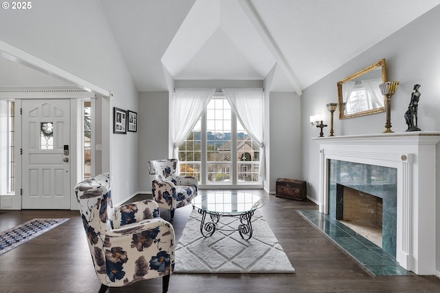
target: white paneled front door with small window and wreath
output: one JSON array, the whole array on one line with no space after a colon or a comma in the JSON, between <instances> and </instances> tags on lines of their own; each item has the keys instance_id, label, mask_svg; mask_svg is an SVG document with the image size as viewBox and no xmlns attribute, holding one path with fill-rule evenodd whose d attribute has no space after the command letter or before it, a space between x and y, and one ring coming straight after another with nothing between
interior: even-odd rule
<instances>
[{"instance_id":1,"label":"white paneled front door with small window and wreath","mask_svg":"<svg viewBox=\"0 0 440 293\"><path fill-rule=\"evenodd\" d=\"M22 100L22 208L70 209L70 100Z\"/></svg>"}]
</instances>

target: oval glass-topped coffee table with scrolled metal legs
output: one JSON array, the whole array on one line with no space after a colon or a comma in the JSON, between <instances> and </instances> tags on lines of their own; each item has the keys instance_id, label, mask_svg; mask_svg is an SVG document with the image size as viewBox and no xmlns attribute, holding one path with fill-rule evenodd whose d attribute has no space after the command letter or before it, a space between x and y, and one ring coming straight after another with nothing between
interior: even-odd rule
<instances>
[{"instance_id":1,"label":"oval glass-topped coffee table with scrolled metal legs","mask_svg":"<svg viewBox=\"0 0 440 293\"><path fill-rule=\"evenodd\" d=\"M219 228L220 217L236 217L240 220L238 228L241 238L252 237L252 215L264 205L259 195L240 191L210 191L192 199L192 206L201 214L200 232L210 237L215 230L232 231ZM209 215L208 219L206 215Z\"/></svg>"}]
</instances>

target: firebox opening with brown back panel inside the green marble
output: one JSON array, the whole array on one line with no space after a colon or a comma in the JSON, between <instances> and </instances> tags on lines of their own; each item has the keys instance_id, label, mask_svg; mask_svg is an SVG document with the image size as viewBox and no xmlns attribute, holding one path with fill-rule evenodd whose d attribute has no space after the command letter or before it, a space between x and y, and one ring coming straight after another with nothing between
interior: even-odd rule
<instances>
[{"instance_id":1,"label":"firebox opening with brown back panel inside the green marble","mask_svg":"<svg viewBox=\"0 0 440 293\"><path fill-rule=\"evenodd\" d=\"M336 219L382 248L382 198L342 185L338 190Z\"/></svg>"}]
</instances>

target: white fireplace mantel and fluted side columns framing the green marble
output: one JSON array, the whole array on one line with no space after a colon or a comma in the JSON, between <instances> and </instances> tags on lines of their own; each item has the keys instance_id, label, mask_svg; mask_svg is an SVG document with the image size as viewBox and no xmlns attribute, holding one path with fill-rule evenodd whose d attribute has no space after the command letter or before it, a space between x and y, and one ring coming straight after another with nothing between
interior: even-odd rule
<instances>
[{"instance_id":1,"label":"white fireplace mantel and fluted side columns framing the green marble","mask_svg":"<svg viewBox=\"0 0 440 293\"><path fill-rule=\"evenodd\" d=\"M396 261L415 274L439 276L440 220L436 214L440 215L440 186L437 188L436 182L440 182L440 133L342 135L312 140L320 144L320 213L329 213L329 160L397 169Z\"/></svg>"}]
</instances>

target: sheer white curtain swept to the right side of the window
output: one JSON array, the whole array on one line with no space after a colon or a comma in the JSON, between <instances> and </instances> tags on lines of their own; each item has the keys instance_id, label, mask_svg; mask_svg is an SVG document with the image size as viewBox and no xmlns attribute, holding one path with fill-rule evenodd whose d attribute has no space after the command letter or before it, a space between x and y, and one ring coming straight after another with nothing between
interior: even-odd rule
<instances>
[{"instance_id":1,"label":"sheer white curtain swept to the right side of the window","mask_svg":"<svg viewBox=\"0 0 440 293\"><path fill-rule=\"evenodd\" d=\"M265 176L263 89L222 89L232 111L260 147L260 176Z\"/></svg>"}]
</instances>

